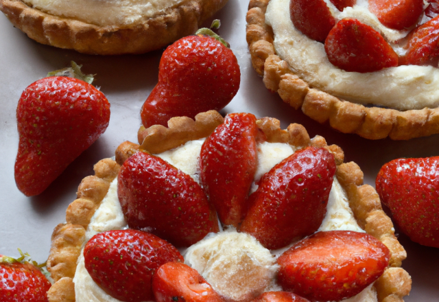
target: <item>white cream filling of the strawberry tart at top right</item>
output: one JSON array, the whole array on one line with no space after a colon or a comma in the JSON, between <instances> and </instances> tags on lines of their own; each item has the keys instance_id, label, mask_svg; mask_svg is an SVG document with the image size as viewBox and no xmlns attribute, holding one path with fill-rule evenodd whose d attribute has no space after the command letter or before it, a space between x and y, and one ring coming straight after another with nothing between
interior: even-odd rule
<instances>
[{"instance_id":1,"label":"white cream filling of the strawberry tart at top right","mask_svg":"<svg viewBox=\"0 0 439 302\"><path fill-rule=\"evenodd\" d=\"M332 5L334 9L337 10ZM350 16L379 30L381 23L381 26L377 25L376 17L365 11L364 5L355 5L353 8L345 8L343 12L337 10L335 16L340 19ZM296 30L289 18L289 0L271 0L265 21L273 29L274 47L278 56L314 88L357 104L373 104L399 110L439 106L439 69L435 67L409 65L372 73L344 71L329 62L324 44ZM383 28L380 31L385 35ZM396 32L399 31L389 30L388 38L392 40L403 34Z\"/></svg>"}]
</instances>

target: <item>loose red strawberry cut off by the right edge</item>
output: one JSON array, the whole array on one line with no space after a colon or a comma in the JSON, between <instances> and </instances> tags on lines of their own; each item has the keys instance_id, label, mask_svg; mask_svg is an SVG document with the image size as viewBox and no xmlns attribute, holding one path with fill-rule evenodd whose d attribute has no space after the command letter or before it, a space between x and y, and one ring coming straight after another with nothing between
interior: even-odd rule
<instances>
[{"instance_id":1,"label":"loose red strawberry cut off by the right edge","mask_svg":"<svg viewBox=\"0 0 439 302\"><path fill-rule=\"evenodd\" d=\"M395 159L379 170L381 202L411 240L439 248L439 156Z\"/></svg>"}]
</instances>

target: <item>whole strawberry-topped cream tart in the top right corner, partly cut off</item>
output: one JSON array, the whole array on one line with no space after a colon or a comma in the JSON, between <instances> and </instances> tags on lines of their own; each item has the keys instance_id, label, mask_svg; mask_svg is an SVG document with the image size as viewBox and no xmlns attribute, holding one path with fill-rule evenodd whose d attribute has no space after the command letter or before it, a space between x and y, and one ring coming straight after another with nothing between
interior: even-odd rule
<instances>
[{"instance_id":1,"label":"whole strawberry-topped cream tart in the top right corner, partly cut off","mask_svg":"<svg viewBox=\"0 0 439 302\"><path fill-rule=\"evenodd\" d=\"M368 139L439 132L434 0L252 0L247 41L265 86Z\"/></svg>"}]
</instances>

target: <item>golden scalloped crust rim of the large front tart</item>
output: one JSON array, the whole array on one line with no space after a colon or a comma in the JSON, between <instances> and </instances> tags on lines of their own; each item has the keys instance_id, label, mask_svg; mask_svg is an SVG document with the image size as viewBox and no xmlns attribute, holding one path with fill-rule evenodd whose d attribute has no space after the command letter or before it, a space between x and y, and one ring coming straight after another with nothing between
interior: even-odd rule
<instances>
[{"instance_id":1,"label":"golden scalloped crust rim of the large front tart","mask_svg":"<svg viewBox=\"0 0 439 302\"><path fill-rule=\"evenodd\" d=\"M222 121L223 117L219 113L208 111L198 114L195 121L188 117L174 117L169 120L168 128L141 127L140 145L126 141L117 148L116 161L103 159L95 165L95 176L84 178L78 188L78 199L67 209L67 222L58 225L52 235L47 267L55 283L49 290L50 302L75 301L73 277L80 251L86 243L85 230L110 188L111 181L117 176L120 165L139 150L161 153L188 141L207 137ZM337 183L340 183L347 196L357 224L388 246L392 254L389 267L373 285L377 291L377 300L403 301L403 297L410 293L412 284L410 275L401 268L401 262L407 254L394 235L390 218L381 209L377 192L370 185L363 185L363 172L358 165L353 162L344 163L344 153L340 147L328 146L320 136L310 139L305 128L299 124L291 124L287 130L281 130L280 121L264 117L257 120L257 126L265 133L268 143L286 143L294 150L316 146L327 148L334 154Z\"/></svg>"}]
</instances>

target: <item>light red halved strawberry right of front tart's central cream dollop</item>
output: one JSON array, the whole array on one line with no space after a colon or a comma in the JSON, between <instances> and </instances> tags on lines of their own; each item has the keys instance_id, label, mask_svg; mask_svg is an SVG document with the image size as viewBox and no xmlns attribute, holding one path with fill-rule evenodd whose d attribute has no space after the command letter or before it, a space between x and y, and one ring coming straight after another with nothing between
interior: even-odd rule
<instances>
[{"instance_id":1,"label":"light red halved strawberry right of front tart's central cream dollop","mask_svg":"<svg viewBox=\"0 0 439 302\"><path fill-rule=\"evenodd\" d=\"M389 249L367 233L318 232L278 258L278 282L313 301L340 301L378 279L389 259Z\"/></svg>"}]
</instances>

